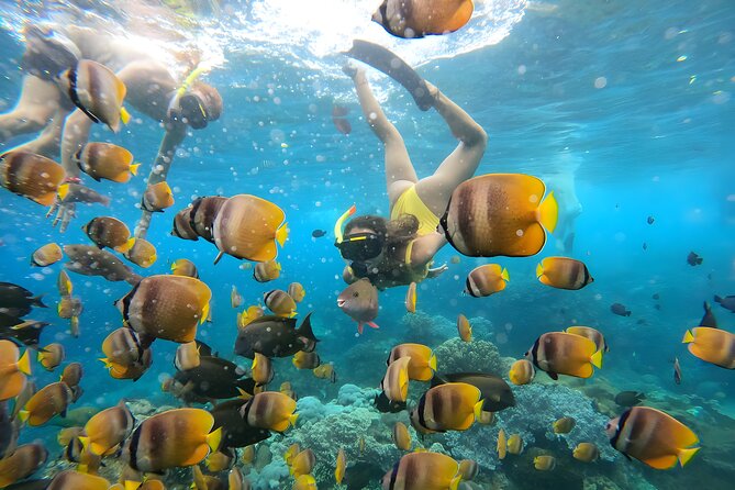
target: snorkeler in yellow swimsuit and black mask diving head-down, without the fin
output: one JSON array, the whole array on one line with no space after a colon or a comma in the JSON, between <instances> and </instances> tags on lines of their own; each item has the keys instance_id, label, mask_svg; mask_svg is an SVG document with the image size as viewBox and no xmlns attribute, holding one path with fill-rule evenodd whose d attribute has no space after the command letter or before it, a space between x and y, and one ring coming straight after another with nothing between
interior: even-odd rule
<instances>
[{"instance_id":1,"label":"snorkeler in yellow swimsuit and black mask diving head-down, without the fin","mask_svg":"<svg viewBox=\"0 0 735 490\"><path fill-rule=\"evenodd\" d=\"M426 82L432 107L459 144L433 175L419 179L403 138L380 108L365 71L348 65L345 73L355 82L365 119L385 147L390 220L357 216L343 231L342 224L355 212L353 208L337 221L335 245L349 261L343 278L353 282L367 277L385 289L434 277L445 270L445 267L430 269L434 255L447 243L436 232L439 216L455 188L475 175L488 135L467 112Z\"/></svg>"}]
</instances>

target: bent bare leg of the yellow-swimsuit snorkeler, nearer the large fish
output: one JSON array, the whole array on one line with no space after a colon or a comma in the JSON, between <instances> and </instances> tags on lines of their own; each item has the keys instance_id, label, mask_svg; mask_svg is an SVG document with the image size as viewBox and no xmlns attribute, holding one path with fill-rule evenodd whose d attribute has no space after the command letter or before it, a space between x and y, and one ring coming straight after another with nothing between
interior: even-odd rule
<instances>
[{"instance_id":1,"label":"bent bare leg of the yellow-swimsuit snorkeler, nearer the large fish","mask_svg":"<svg viewBox=\"0 0 735 490\"><path fill-rule=\"evenodd\" d=\"M416 183L416 193L437 216L444 214L452 192L470 179L480 165L488 134L470 115L436 87L426 82L434 94L434 108L444 118L459 145L442 162L436 171Z\"/></svg>"}]
</instances>

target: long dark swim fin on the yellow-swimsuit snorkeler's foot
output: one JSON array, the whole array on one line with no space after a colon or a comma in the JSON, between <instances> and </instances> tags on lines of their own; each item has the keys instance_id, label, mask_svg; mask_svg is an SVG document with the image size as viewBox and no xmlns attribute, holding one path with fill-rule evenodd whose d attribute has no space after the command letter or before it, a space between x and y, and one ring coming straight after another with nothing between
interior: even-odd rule
<instances>
[{"instance_id":1,"label":"long dark swim fin on the yellow-swimsuit snorkeler's foot","mask_svg":"<svg viewBox=\"0 0 735 490\"><path fill-rule=\"evenodd\" d=\"M434 97L426 87L426 80L390 49L368 41L354 40L353 47L345 55L370 65L401 83L422 111L434 105Z\"/></svg>"}]
</instances>

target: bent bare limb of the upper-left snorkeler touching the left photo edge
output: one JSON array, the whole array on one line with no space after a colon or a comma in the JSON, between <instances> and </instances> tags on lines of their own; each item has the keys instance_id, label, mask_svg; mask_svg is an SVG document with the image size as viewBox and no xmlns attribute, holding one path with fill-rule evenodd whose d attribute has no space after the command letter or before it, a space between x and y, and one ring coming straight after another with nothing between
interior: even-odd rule
<instances>
[{"instance_id":1,"label":"bent bare limb of the upper-left snorkeler touching the left photo edge","mask_svg":"<svg viewBox=\"0 0 735 490\"><path fill-rule=\"evenodd\" d=\"M0 114L0 143L42 130L59 107L56 85L38 77L23 77L23 89L15 108Z\"/></svg>"}]
</instances>

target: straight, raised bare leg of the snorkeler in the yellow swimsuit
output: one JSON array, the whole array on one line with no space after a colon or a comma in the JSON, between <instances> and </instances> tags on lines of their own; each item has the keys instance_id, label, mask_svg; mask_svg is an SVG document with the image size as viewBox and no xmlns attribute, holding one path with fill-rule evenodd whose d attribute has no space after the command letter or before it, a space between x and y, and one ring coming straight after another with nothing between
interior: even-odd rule
<instances>
[{"instance_id":1,"label":"straight, raised bare leg of the snorkeler in the yellow swimsuit","mask_svg":"<svg viewBox=\"0 0 735 490\"><path fill-rule=\"evenodd\" d=\"M382 112L380 103L375 98L365 77L365 70L346 65L344 71L355 82L355 90L357 90L357 98L365 119L386 149L386 187L388 198L392 204L408 187L419 180L419 177L411 163L409 152L405 149L403 137Z\"/></svg>"}]
</instances>

